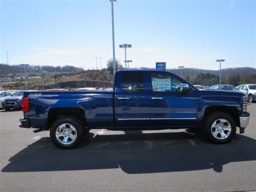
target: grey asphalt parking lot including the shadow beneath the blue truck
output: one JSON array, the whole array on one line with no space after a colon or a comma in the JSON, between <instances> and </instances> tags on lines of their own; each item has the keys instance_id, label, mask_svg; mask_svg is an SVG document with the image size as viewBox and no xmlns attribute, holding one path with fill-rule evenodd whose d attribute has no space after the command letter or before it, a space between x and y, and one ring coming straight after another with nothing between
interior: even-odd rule
<instances>
[{"instance_id":1,"label":"grey asphalt parking lot including the shadow beneath the blue truck","mask_svg":"<svg viewBox=\"0 0 256 192\"><path fill-rule=\"evenodd\" d=\"M185 130L93 130L75 150L49 131L19 128L21 111L0 111L1 191L256 190L256 103L249 126L224 145ZM239 132L239 129L237 133Z\"/></svg>"}]
</instances>

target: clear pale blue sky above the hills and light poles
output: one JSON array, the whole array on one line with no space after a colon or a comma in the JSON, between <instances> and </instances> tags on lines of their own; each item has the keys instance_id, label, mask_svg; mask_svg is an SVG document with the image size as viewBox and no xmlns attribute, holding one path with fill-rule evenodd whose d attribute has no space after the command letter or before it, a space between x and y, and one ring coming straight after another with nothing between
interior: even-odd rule
<instances>
[{"instance_id":1,"label":"clear pale blue sky above the hills and light poles","mask_svg":"<svg viewBox=\"0 0 256 192\"><path fill-rule=\"evenodd\" d=\"M116 58L131 67L255 67L255 1L114 2ZM1 63L102 68L112 58L111 3L1 0ZM201 63L200 63L201 60ZM99 63L99 60L98 60Z\"/></svg>"}]
</instances>

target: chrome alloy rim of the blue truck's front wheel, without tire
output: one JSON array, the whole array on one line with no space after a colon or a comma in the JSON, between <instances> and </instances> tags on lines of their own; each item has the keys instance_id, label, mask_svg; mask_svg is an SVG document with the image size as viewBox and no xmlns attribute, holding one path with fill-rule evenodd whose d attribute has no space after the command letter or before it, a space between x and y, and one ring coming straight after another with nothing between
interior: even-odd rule
<instances>
[{"instance_id":1,"label":"chrome alloy rim of the blue truck's front wheel, without tire","mask_svg":"<svg viewBox=\"0 0 256 192\"><path fill-rule=\"evenodd\" d=\"M231 125L226 119L217 119L211 125L211 134L216 139L226 139L231 133Z\"/></svg>"}]
</instances>

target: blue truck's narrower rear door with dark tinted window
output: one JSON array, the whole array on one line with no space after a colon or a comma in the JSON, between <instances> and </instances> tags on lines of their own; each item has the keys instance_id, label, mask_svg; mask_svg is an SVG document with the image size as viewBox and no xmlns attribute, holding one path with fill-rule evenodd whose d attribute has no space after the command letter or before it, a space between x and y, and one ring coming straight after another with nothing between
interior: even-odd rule
<instances>
[{"instance_id":1,"label":"blue truck's narrower rear door with dark tinted window","mask_svg":"<svg viewBox=\"0 0 256 192\"><path fill-rule=\"evenodd\" d=\"M144 72L122 72L115 90L116 127L148 126L150 101Z\"/></svg>"}]
</instances>

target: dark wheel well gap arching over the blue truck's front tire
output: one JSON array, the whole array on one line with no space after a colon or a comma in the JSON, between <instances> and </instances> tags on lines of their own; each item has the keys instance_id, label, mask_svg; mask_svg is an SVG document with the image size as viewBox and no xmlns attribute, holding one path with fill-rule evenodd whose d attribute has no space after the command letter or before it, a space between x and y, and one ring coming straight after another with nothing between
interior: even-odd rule
<instances>
[{"instance_id":1,"label":"dark wheel well gap arching over the blue truck's front tire","mask_svg":"<svg viewBox=\"0 0 256 192\"><path fill-rule=\"evenodd\" d=\"M231 117L233 117L234 121L236 121L237 126L240 127L240 119L236 106L208 106L204 112L204 119L210 113L217 111L229 114Z\"/></svg>"}]
</instances>

